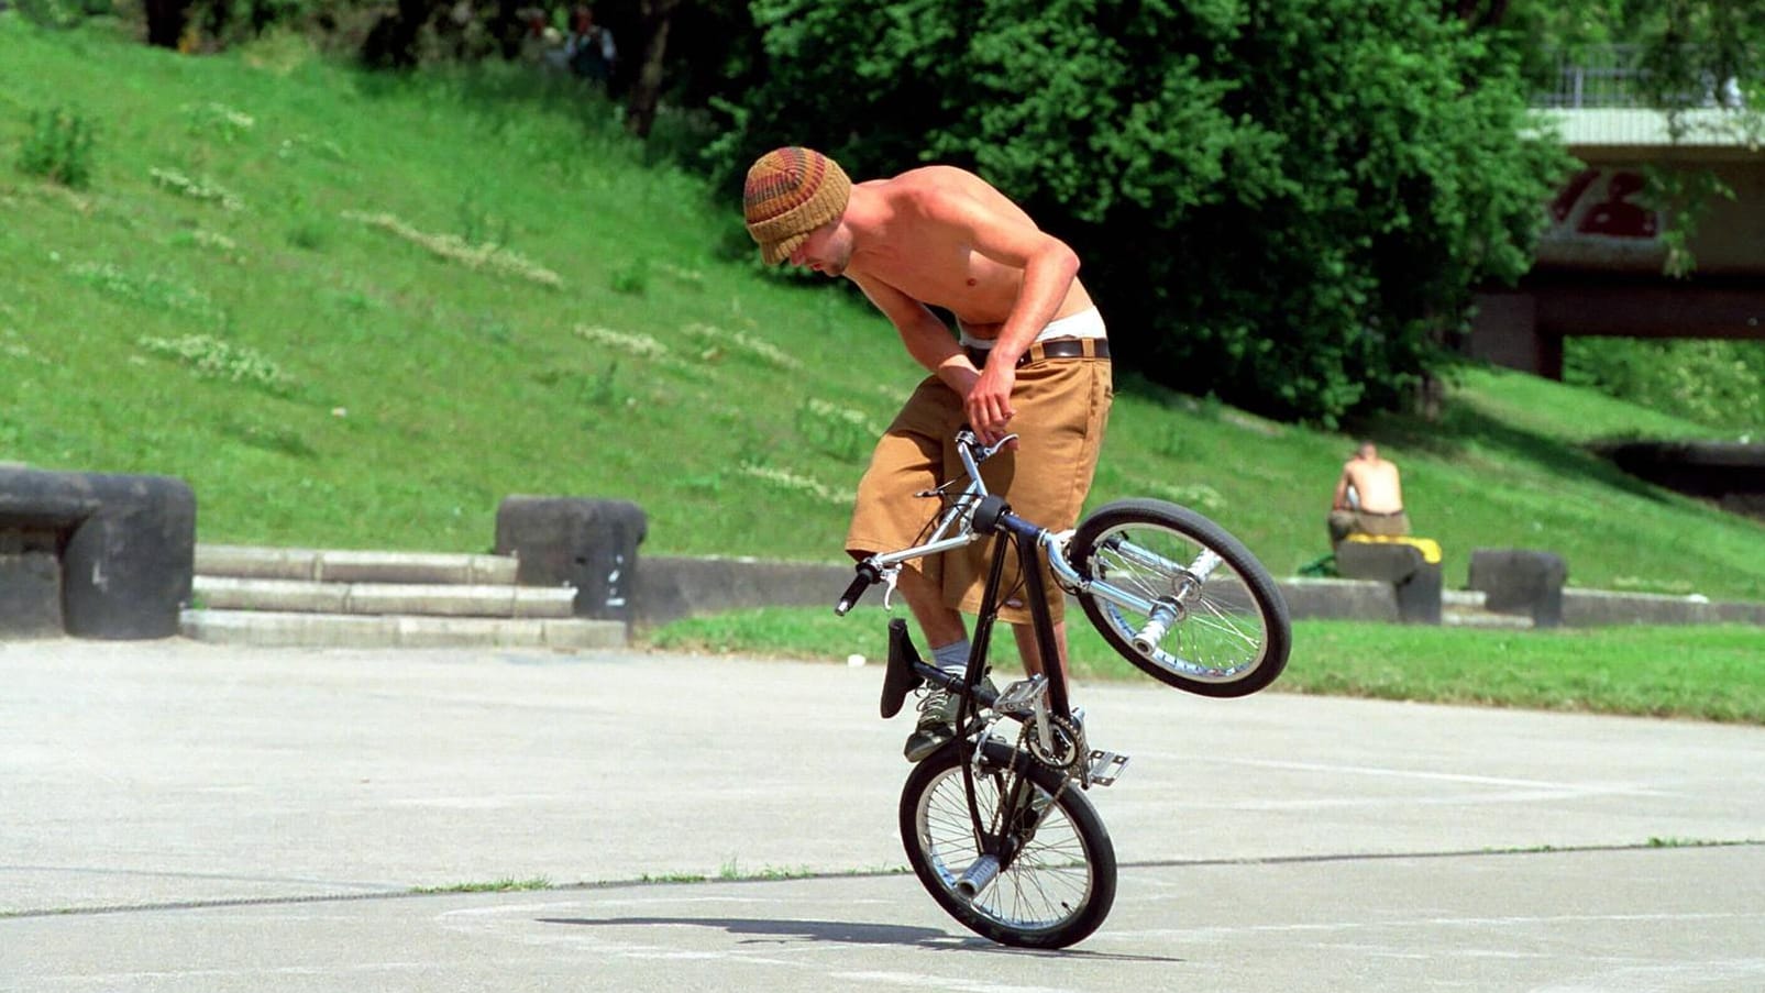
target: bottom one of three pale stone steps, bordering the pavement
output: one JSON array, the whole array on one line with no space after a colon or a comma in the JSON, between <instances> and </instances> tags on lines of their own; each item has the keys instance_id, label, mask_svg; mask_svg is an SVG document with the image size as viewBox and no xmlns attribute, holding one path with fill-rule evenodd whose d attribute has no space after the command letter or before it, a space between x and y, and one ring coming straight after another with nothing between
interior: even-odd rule
<instances>
[{"instance_id":1,"label":"bottom one of three pale stone steps, bordering the pavement","mask_svg":"<svg viewBox=\"0 0 1765 993\"><path fill-rule=\"evenodd\" d=\"M191 640L252 647L547 647L625 646L621 621L579 617L415 617L274 610L184 610Z\"/></svg>"}]
</instances>

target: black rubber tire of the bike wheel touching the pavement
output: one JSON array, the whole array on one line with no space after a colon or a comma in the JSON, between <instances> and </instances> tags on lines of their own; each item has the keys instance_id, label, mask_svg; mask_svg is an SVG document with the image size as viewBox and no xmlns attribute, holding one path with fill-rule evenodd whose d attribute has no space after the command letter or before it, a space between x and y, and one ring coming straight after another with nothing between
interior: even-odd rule
<instances>
[{"instance_id":1,"label":"black rubber tire of the bike wheel touching the pavement","mask_svg":"<svg viewBox=\"0 0 1765 993\"><path fill-rule=\"evenodd\" d=\"M1018 762L1022 769L1027 769L1029 780L1041 787L1047 794L1057 797L1061 811L1071 822L1073 834L1077 834L1080 847L1084 848L1084 862L1091 873L1091 887L1085 892L1084 903L1077 907L1070 915L1061 919L1057 924L1048 928L1018 928L1008 921L988 915L974 908L974 905L964 900L950 882L932 866L932 857L925 848L925 836L920 831L920 813L923 801L928 799L928 792L944 776L962 776L962 762L965 753L974 748L973 741L953 741L944 748L937 750L923 762L914 765L913 773L907 776L907 783L902 787L900 794L900 840L907 850L907 862L913 864L914 875L920 877L920 884L925 885L932 900L944 908L946 914L955 917L964 928L981 935L983 938L999 942L1001 945L1013 945L1024 949L1064 949L1075 942L1084 940L1103 919L1108 917L1110 907L1115 903L1115 845L1108 838L1108 831L1103 827L1103 818L1098 817L1091 799L1077 787L1071 785L1059 773L1036 764L1027 753L1013 750L1004 741L990 741L987 744L987 760L1008 767L1013 760ZM1066 788L1063 788L1066 787ZM960 785L957 787L962 788ZM1010 870L1008 870L1010 871ZM1004 885L1004 880L994 885Z\"/></svg>"}]
</instances>

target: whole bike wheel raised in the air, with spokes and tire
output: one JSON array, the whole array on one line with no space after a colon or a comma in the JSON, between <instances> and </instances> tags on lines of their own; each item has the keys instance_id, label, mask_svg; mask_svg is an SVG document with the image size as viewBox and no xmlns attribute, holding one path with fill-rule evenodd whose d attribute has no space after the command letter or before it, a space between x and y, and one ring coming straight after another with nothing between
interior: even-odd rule
<instances>
[{"instance_id":1,"label":"whole bike wheel raised in the air, with spokes and tire","mask_svg":"<svg viewBox=\"0 0 1765 993\"><path fill-rule=\"evenodd\" d=\"M1103 640L1153 677L1244 697L1287 667L1292 626L1269 571L1223 527L1174 503L1124 499L1078 524L1066 550Z\"/></svg>"}]
</instances>

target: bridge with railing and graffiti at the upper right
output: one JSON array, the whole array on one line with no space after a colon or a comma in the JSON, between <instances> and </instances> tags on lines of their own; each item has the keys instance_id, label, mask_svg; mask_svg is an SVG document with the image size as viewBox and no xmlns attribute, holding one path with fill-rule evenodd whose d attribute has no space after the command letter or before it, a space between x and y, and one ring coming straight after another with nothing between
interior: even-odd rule
<instances>
[{"instance_id":1,"label":"bridge with railing and graffiti at the upper right","mask_svg":"<svg viewBox=\"0 0 1765 993\"><path fill-rule=\"evenodd\" d=\"M1758 118L1749 120L1730 81L1670 122L1636 106L1624 53L1615 55L1603 65L1566 65L1558 90L1536 101L1541 123L1560 131L1581 169L1546 206L1532 272L1479 295L1474 358L1558 379L1562 342L1574 335L1765 340ZM1650 173L1693 171L1712 173L1735 196L1705 206L1686 242L1696 268L1671 277L1668 219L1649 196Z\"/></svg>"}]
</instances>

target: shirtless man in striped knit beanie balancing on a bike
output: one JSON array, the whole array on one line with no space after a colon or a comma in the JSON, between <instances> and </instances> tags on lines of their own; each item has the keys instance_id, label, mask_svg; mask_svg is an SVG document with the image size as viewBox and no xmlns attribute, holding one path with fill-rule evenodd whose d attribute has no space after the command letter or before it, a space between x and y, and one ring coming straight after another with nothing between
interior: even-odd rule
<instances>
[{"instance_id":1,"label":"shirtless man in striped knit beanie balancing on a bike","mask_svg":"<svg viewBox=\"0 0 1765 993\"><path fill-rule=\"evenodd\" d=\"M1015 513L1050 529L1077 522L1114 388L1103 317L1066 243L974 173L927 166L852 183L810 148L777 148L754 162L743 208L768 265L789 259L852 280L930 372L858 485L845 538L852 557L918 541L939 504L914 494L962 471L953 446L962 423L987 444L1018 436L983 467L988 490ZM957 317L960 339L928 305ZM978 541L900 571L898 589L946 670L967 665L962 610L980 608L990 549ZM1020 579L1008 564L1001 589L1020 591ZM1043 589L1064 672L1064 596L1047 566ZM1025 668L1041 672L1029 607L1008 598L999 617L1013 624ZM935 690L920 711L905 748L913 762L950 741L955 700Z\"/></svg>"}]
</instances>

